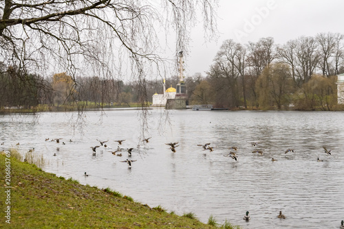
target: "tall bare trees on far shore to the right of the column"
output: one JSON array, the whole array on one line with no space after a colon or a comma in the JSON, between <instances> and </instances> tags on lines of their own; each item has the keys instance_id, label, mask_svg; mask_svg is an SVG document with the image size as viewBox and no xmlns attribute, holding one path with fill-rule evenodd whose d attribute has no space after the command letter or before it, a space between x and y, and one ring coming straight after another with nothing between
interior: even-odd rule
<instances>
[{"instance_id":1,"label":"tall bare trees on far shore to the right of the column","mask_svg":"<svg viewBox=\"0 0 344 229\"><path fill-rule=\"evenodd\" d=\"M230 108L328 110L336 104L336 75L344 73L343 38L329 32L284 45L273 38L225 40L206 75L212 90L206 100Z\"/></svg>"}]
</instances>

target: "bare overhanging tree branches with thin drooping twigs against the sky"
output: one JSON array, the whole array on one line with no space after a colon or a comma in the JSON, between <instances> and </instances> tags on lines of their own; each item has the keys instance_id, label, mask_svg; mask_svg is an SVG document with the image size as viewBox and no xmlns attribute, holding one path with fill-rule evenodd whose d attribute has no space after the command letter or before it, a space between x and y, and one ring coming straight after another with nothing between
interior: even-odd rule
<instances>
[{"instance_id":1,"label":"bare overhanging tree branches with thin drooping twigs against the sky","mask_svg":"<svg viewBox=\"0 0 344 229\"><path fill-rule=\"evenodd\" d=\"M74 82L85 75L131 77L144 106L147 75L166 71L161 28L166 40L175 32L175 53L187 54L191 27L200 19L206 37L214 35L216 8L217 0L0 1L0 62L66 72Z\"/></svg>"}]
</instances>

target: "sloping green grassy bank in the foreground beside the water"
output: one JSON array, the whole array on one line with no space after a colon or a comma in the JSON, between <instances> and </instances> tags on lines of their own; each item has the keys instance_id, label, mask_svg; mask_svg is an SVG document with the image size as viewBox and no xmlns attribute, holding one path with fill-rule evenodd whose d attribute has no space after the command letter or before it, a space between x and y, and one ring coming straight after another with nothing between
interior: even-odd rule
<instances>
[{"instance_id":1,"label":"sloping green grassy bank in the foreground beside the water","mask_svg":"<svg viewBox=\"0 0 344 229\"><path fill-rule=\"evenodd\" d=\"M5 162L6 156L0 154L1 186L5 184L7 190ZM12 189L6 206L10 206L12 228L217 228L191 219L192 213L178 216L160 206L150 208L110 189L58 178L13 156L10 169ZM4 191L0 196L5 203ZM1 206L0 227L6 225L6 206Z\"/></svg>"}]
</instances>

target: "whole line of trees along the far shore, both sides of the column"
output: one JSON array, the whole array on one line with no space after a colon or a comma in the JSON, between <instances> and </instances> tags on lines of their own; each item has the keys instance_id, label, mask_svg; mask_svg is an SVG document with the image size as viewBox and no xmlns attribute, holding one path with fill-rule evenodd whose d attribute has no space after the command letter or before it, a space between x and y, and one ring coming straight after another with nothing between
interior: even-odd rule
<instances>
[{"instance_id":1,"label":"whole line of trees along the far shore, both sides of the column","mask_svg":"<svg viewBox=\"0 0 344 229\"><path fill-rule=\"evenodd\" d=\"M299 37L284 45L273 38L241 44L225 40L209 70L185 78L191 104L226 108L330 110L336 75L344 73L343 34ZM166 79L175 86L178 77ZM0 106L29 108L84 101L85 106L149 104L162 79L123 82L116 77L41 76L0 64Z\"/></svg>"}]
</instances>

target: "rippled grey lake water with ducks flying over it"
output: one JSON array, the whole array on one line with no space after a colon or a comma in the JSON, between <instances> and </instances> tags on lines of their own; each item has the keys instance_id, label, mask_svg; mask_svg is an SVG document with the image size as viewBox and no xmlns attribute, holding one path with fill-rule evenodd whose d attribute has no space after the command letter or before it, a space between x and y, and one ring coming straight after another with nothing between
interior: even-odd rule
<instances>
[{"instance_id":1,"label":"rippled grey lake water with ducks flying over it","mask_svg":"<svg viewBox=\"0 0 344 229\"><path fill-rule=\"evenodd\" d=\"M79 119L76 112L1 116L1 149L18 142L23 153L34 147L45 171L178 215L193 212L204 222L213 215L242 228L339 228L344 219L344 112L157 108L149 110L147 144L140 120L138 110L89 111ZM110 149L98 147L92 156L96 139L109 140ZM122 139L122 147L134 148L131 169L120 162L127 152L111 154L118 147L114 140ZM165 145L171 142L179 142L175 153ZM214 151L197 146L204 143ZM237 161L224 157L232 146L239 148ZM295 152L285 154L288 148ZM255 149L264 154L252 154ZM277 218L279 210L286 219Z\"/></svg>"}]
</instances>

